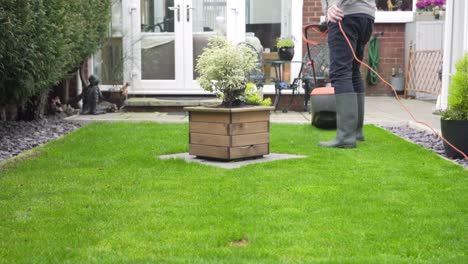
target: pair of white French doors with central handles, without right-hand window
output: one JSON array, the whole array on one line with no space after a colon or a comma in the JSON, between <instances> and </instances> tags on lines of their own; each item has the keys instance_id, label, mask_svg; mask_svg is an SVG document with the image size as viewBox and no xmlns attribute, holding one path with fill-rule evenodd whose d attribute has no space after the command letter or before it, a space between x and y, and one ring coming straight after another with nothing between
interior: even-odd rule
<instances>
[{"instance_id":1,"label":"pair of white French doors with central handles, without right-hand window","mask_svg":"<svg viewBox=\"0 0 468 264\"><path fill-rule=\"evenodd\" d=\"M239 35L229 31L241 27L230 24L243 15L235 0L129 0L126 9L125 66L135 94L204 93L195 81L196 58L210 37Z\"/></svg>"}]
</instances>

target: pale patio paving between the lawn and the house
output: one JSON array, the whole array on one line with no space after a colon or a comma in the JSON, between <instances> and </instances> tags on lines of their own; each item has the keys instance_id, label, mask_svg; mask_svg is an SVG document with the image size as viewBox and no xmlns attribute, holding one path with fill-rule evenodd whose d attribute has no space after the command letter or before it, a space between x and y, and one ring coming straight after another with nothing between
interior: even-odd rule
<instances>
[{"instance_id":1,"label":"pale patio paving between the lawn and the house","mask_svg":"<svg viewBox=\"0 0 468 264\"><path fill-rule=\"evenodd\" d=\"M440 131L440 116L434 115L435 101L421 101L414 99L402 99L402 103L413 113L414 117L425 122L437 131ZM160 123L183 123L188 122L188 114L184 112L118 112L103 115L75 115L67 120L79 123L89 122L160 122ZM272 123L310 124L311 115L307 112L281 111L272 112ZM398 101L393 97L369 96L366 97L366 109L364 122L379 126L402 126L431 131L429 128L415 122L410 114L405 112Z\"/></svg>"}]
</instances>

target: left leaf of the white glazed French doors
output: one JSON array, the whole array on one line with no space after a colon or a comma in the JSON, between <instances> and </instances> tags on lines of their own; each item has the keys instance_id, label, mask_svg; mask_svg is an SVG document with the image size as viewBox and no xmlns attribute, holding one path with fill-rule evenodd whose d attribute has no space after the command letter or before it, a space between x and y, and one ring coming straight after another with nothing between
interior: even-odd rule
<instances>
[{"instance_id":1,"label":"left leaf of the white glazed French doors","mask_svg":"<svg viewBox=\"0 0 468 264\"><path fill-rule=\"evenodd\" d=\"M132 1L132 92L171 93L183 84L182 0Z\"/></svg>"}]
</instances>

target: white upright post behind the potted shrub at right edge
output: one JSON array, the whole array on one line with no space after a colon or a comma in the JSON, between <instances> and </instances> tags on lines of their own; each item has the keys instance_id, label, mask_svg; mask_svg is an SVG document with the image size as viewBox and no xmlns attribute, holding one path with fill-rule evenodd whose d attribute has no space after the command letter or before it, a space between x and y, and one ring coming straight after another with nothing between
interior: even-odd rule
<instances>
[{"instance_id":1,"label":"white upright post behind the potted shrub at right edge","mask_svg":"<svg viewBox=\"0 0 468 264\"><path fill-rule=\"evenodd\" d=\"M437 98L437 110L443 111L447 109L448 89L450 85L450 77L452 76L452 48L453 48L453 21L454 0L447 0L445 10L445 29L444 29L444 61L442 67L442 90Z\"/></svg>"}]
</instances>

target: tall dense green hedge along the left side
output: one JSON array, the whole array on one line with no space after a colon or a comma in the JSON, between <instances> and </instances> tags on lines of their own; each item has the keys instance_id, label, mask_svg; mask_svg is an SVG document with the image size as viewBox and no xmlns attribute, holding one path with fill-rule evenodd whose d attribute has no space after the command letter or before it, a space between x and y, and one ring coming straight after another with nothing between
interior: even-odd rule
<instances>
[{"instance_id":1,"label":"tall dense green hedge along the left side","mask_svg":"<svg viewBox=\"0 0 468 264\"><path fill-rule=\"evenodd\" d=\"M100 46L110 1L0 0L0 105L25 104Z\"/></svg>"}]
</instances>

